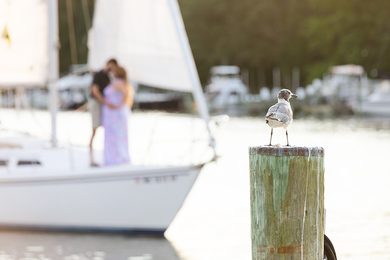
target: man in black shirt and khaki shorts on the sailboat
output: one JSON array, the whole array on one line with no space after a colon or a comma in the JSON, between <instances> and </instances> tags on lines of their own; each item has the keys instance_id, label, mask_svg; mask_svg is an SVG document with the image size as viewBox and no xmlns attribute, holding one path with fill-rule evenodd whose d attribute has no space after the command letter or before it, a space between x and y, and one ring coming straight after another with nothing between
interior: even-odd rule
<instances>
[{"instance_id":1,"label":"man in black shirt and khaki shorts on the sailboat","mask_svg":"<svg viewBox=\"0 0 390 260\"><path fill-rule=\"evenodd\" d=\"M117 61L115 59L109 60L106 66L95 74L94 80L92 82L92 99L90 101L90 111L92 114L92 137L89 143L91 166L97 166L93 159L92 141L94 139L97 127L101 126L101 105L105 104L103 90L110 83L108 72L112 71L116 67L118 67Z\"/></svg>"}]
</instances>

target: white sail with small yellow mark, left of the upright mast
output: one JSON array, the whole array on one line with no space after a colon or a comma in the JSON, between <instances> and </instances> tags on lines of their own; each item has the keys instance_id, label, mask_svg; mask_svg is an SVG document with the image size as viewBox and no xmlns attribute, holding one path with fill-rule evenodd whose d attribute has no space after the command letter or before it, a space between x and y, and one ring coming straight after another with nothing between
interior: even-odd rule
<instances>
[{"instance_id":1,"label":"white sail with small yellow mark, left of the upright mast","mask_svg":"<svg viewBox=\"0 0 390 260\"><path fill-rule=\"evenodd\" d=\"M0 86L48 78L47 0L0 0Z\"/></svg>"}]
</instances>

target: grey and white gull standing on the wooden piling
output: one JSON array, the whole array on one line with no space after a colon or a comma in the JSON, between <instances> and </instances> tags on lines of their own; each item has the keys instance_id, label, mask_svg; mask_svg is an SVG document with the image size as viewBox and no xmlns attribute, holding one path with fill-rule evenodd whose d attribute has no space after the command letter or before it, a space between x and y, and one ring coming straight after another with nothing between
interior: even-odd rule
<instances>
[{"instance_id":1,"label":"grey and white gull standing on the wooden piling","mask_svg":"<svg viewBox=\"0 0 390 260\"><path fill-rule=\"evenodd\" d=\"M289 145L289 136L287 134L287 127L293 122L293 110L291 110L290 101L291 97L298 98L288 89L282 89L278 94L278 103L271 106L268 109L266 118L266 124L271 127L271 139L269 139L269 145L271 146L272 130L274 128L283 127L286 130L287 145Z\"/></svg>"}]
</instances>

